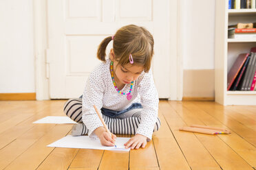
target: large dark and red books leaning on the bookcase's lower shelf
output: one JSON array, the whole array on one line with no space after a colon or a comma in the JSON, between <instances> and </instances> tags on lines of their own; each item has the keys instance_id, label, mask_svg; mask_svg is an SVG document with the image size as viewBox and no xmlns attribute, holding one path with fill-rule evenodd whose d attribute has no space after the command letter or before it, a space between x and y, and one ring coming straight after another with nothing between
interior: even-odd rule
<instances>
[{"instance_id":1,"label":"large dark and red books leaning on the bookcase's lower shelf","mask_svg":"<svg viewBox=\"0 0 256 170\"><path fill-rule=\"evenodd\" d=\"M256 90L256 47L241 53L228 71L227 90Z\"/></svg>"}]
</instances>

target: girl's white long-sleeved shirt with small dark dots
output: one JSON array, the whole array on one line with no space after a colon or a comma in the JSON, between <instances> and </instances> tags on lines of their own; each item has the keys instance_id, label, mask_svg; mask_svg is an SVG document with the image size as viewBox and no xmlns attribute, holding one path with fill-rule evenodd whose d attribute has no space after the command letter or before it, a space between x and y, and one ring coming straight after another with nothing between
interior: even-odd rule
<instances>
[{"instance_id":1,"label":"girl's white long-sleeved shirt with small dark dots","mask_svg":"<svg viewBox=\"0 0 256 170\"><path fill-rule=\"evenodd\" d=\"M89 129L88 135L93 137L94 130L103 126L94 110L94 105L99 111L100 108L121 111L129 108L133 103L140 103L143 109L136 134L142 134L151 140L153 127L158 117L159 102L151 70L149 73L143 71L134 81L131 90L132 98L128 100L127 95L118 93L114 87L109 71L110 62L111 60L108 59L96 66L86 82L83 93L83 123ZM130 86L131 84L126 84L121 91L125 94L129 93Z\"/></svg>"}]
</instances>

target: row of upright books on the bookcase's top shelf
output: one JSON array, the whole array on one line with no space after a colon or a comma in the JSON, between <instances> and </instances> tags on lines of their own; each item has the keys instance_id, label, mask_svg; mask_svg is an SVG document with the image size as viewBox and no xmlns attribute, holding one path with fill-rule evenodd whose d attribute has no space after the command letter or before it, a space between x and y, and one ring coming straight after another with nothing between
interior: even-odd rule
<instances>
[{"instance_id":1,"label":"row of upright books on the bookcase's top shelf","mask_svg":"<svg viewBox=\"0 0 256 170\"><path fill-rule=\"evenodd\" d=\"M228 0L228 9L255 9L256 0Z\"/></svg>"}]
</instances>

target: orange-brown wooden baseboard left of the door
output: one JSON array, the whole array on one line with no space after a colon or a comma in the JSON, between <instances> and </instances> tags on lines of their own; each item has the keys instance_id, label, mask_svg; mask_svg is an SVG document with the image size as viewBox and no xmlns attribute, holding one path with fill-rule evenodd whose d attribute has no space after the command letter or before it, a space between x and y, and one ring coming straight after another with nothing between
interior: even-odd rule
<instances>
[{"instance_id":1,"label":"orange-brown wooden baseboard left of the door","mask_svg":"<svg viewBox=\"0 0 256 170\"><path fill-rule=\"evenodd\" d=\"M36 100L36 93L0 93L0 100Z\"/></svg>"}]
</instances>

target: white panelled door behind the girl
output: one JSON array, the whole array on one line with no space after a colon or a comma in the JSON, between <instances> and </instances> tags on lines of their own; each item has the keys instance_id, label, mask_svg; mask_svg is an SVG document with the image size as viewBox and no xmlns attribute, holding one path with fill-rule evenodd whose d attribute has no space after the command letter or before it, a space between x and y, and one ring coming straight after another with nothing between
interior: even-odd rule
<instances>
[{"instance_id":1,"label":"white panelled door behind the girl","mask_svg":"<svg viewBox=\"0 0 256 170\"><path fill-rule=\"evenodd\" d=\"M89 73L100 63L96 58L100 42L129 24L146 27L153 34L156 87L160 98L171 97L171 86L177 84L173 76L177 73L171 72L171 53L175 51L171 50L169 0L54 0L47 3L51 99L80 96ZM108 50L110 48L111 43Z\"/></svg>"}]
</instances>

